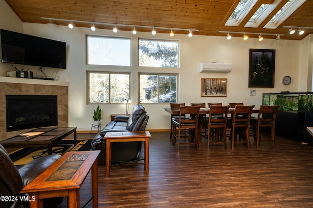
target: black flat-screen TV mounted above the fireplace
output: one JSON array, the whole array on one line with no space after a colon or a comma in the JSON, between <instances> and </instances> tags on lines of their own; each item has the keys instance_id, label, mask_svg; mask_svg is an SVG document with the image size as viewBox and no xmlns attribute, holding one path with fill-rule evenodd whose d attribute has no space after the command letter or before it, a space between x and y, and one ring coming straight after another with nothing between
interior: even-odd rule
<instances>
[{"instance_id":1,"label":"black flat-screen TV mounted above the fireplace","mask_svg":"<svg viewBox=\"0 0 313 208\"><path fill-rule=\"evenodd\" d=\"M0 29L2 62L66 69L66 43Z\"/></svg>"}]
</instances>

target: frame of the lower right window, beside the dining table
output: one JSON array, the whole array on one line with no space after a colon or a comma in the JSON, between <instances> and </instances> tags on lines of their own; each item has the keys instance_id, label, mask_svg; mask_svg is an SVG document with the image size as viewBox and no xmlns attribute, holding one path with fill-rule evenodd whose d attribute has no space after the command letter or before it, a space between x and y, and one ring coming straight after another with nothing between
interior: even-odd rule
<instances>
[{"instance_id":1,"label":"frame of the lower right window, beside the dining table","mask_svg":"<svg viewBox=\"0 0 313 208\"><path fill-rule=\"evenodd\" d=\"M140 75L151 75L151 76L157 76L157 102L156 103L145 103L140 102ZM176 76L176 102L178 102L179 97L179 73L138 73L138 104L153 104L153 105L164 105L169 103L160 103L159 102L159 87L160 87L160 76Z\"/></svg>"}]
</instances>

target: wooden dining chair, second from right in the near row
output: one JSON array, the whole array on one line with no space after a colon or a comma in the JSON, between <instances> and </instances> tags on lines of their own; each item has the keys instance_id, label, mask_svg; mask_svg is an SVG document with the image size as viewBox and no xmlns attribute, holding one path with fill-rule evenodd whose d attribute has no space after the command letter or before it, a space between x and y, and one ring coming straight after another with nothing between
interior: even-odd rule
<instances>
[{"instance_id":1,"label":"wooden dining chair, second from right in the near row","mask_svg":"<svg viewBox=\"0 0 313 208\"><path fill-rule=\"evenodd\" d=\"M234 115L232 118L227 119L227 125L231 129L231 149L234 150L234 143L247 143L247 147L250 148L249 129L250 129L250 117L254 105L236 105ZM240 129L239 129L240 128ZM246 136L246 140L237 141L237 132L242 130L239 135ZM245 130L245 131L244 131ZM236 139L235 139L236 137Z\"/></svg>"}]
</instances>

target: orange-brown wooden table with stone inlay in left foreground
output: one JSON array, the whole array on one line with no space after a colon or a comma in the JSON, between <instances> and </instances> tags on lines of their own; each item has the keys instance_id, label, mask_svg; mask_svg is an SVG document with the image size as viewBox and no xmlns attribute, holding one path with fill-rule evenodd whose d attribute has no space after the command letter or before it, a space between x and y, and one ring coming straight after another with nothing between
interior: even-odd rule
<instances>
[{"instance_id":1,"label":"orange-brown wooden table with stone inlay in left foreground","mask_svg":"<svg viewBox=\"0 0 313 208\"><path fill-rule=\"evenodd\" d=\"M97 208L99 154L99 150L67 152L20 193L29 193L30 199L35 199L29 202L31 208L42 208L45 198L62 196L67 196L68 208L79 208L79 189L91 170L92 206Z\"/></svg>"}]
</instances>

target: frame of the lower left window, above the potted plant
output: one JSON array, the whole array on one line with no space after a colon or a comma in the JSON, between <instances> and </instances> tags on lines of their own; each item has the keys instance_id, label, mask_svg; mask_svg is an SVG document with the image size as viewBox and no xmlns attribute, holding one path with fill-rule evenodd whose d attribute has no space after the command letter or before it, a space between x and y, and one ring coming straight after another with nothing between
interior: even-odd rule
<instances>
[{"instance_id":1,"label":"frame of the lower left window, above the potted plant","mask_svg":"<svg viewBox=\"0 0 313 208\"><path fill-rule=\"evenodd\" d=\"M129 97L131 97L131 72L113 72L113 71L86 71L87 73L87 104L94 105L94 104L123 104L123 102L111 102L111 75L129 75ZM90 74L108 74L109 75L109 102L90 102ZM126 98L126 97L125 97Z\"/></svg>"}]
</instances>

